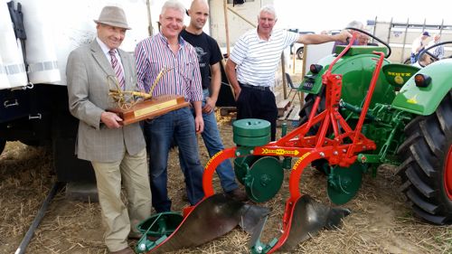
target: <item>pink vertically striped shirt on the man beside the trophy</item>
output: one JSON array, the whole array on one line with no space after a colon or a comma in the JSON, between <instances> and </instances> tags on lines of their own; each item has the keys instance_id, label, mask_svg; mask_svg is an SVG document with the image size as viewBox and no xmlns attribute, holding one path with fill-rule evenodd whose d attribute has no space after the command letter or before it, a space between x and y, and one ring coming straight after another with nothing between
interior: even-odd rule
<instances>
[{"instance_id":1,"label":"pink vertically striped shirt on the man beside the trophy","mask_svg":"<svg viewBox=\"0 0 452 254\"><path fill-rule=\"evenodd\" d=\"M164 68L171 69L155 85L152 95L174 94L184 96L187 101L201 101L201 74L196 52L182 37L179 38L179 44L179 51L174 54L161 33L137 44L138 88L149 92L158 73Z\"/></svg>"}]
</instances>

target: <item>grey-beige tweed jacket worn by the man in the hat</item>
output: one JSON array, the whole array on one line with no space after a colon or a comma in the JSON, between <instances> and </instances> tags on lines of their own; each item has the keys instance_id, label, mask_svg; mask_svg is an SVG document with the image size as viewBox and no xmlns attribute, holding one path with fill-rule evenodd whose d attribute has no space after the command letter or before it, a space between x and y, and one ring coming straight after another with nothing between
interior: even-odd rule
<instances>
[{"instance_id":1,"label":"grey-beige tweed jacket worn by the man in the hat","mask_svg":"<svg viewBox=\"0 0 452 254\"><path fill-rule=\"evenodd\" d=\"M118 50L124 67L125 89L135 90L137 70L132 55ZM108 163L121 161L126 151L137 155L145 148L138 123L109 129L100 122L100 114L115 104L108 97L108 75L115 71L94 40L71 52L66 68L69 108L80 119L76 154L80 159Z\"/></svg>"}]
</instances>

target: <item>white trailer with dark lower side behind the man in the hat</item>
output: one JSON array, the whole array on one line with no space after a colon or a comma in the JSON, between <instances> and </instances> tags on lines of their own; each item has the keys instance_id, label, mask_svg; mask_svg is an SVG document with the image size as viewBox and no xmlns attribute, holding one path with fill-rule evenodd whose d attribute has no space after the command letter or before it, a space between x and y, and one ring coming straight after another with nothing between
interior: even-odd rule
<instances>
[{"instance_id":1,"label":"white trailer with dark lower side behind the man in the hat","mask_svg":"<svg viewBox=\"0 0 452 254\"><path fill-rule=\"evenodd\" d=\"M95 38L93 20L105 5L125 10L132 30L121 48L134 52L151 31L149 1L7 2L0 0L0 153L6 141L51 146L58 181L94 182L90 164L74 155L78 119L68 109L66 61L72 50ZM13 23L17 15L10 15L11 7L24 26Z\"/></svg>"}]
</instances>

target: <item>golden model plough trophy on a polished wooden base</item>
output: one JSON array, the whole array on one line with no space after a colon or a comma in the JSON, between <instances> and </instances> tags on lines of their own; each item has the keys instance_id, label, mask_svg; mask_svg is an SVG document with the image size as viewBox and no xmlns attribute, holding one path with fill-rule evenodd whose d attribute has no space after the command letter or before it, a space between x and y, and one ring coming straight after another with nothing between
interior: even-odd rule
<instances>
[{"instance_id":1,"label":"golden model plough trophy on a polished wooden base","mask_svg":"<svg viewBox=\"0 0 452 254\"><path fill-rule=\"evenodd\" d=\"M165 75L167 71L173 68L162 69L155 79L154 83L146 91L122 90L118 78L109 75L108 80L108 96L113 99L113 102L118 106L116 108L109 108L108 111L115 112L123 119L123 125L132 124L143 119L155 118L164 115L169 111L190 106L186 102L184 96L178 95L162 95L152 96L155 85Z\"/></svg>"}]
</instances>

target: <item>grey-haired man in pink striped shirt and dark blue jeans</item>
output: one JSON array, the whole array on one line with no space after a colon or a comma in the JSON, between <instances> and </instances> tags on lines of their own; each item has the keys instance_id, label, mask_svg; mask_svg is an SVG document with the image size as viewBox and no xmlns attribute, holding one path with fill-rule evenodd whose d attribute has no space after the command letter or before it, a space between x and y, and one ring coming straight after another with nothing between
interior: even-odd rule
<instances>
[{"instance_id":1,"label":"grey-haired man in pink striped shirt and dark blue jeans","mask_svg":"<svg viewBox=\"0 0 452 254\"><path fill-rule=\"evenodd\" d=\"M152 203L156 212L171 210L167 194L167 160L171 141L179 146L179 156L187 168L183 171L188 201L199 202L202 191L202 165L199 159L196 133L203 130L202 86L198 60L193 46L179 36L184 24L185 8L178 1L167 1L162 7L160 33L137 44L137 80L140 87L150 91L160 71L166 70L153 89L153 96L183 95L192 102L181 108L145 122L145 136L150 148L149 176Z\"/></svg>"}]
</instances>

